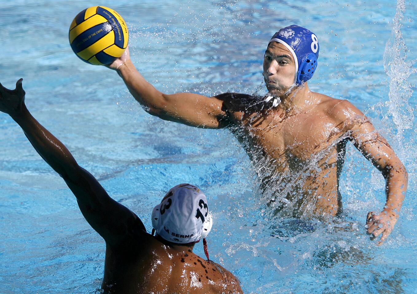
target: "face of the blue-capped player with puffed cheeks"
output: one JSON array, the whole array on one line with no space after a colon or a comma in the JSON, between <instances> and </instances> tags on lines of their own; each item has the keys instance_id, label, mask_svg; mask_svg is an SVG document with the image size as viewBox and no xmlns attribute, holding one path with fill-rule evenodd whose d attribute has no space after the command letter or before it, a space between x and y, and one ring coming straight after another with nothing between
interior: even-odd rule
<instances>
[{"instance_id":1,"label":"face of the blue-capped player with puffed cheeks","mask_svg":"<svg viewBox=\"0 0 417 294\"><path fill-rule=\"evenodd\" d=\"M292 86L295 62L291 52L281 43L271 42L264 57L264 80L271 94L280 96Z\"/></svg>"}]
</instances>

